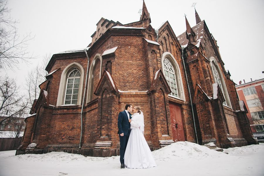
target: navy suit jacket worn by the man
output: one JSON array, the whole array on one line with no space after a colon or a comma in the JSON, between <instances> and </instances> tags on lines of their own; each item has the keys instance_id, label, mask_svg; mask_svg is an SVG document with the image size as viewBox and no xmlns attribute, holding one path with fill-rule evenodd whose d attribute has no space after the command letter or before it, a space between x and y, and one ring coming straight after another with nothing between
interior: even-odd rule
<instances>
[{"instance_id":1,"label":"navy suit jacket worn by the man","mask_svg":"<svg viewBox=\"0 0 264 176\"><path fill-rule=\"evenodd\" d=\"M128 113L129 116L131 116L130 113ZM117 120L117 126L118 126L118 134L124 133L124 135L129 135L130 133L130 123L128 121L128 116L126 114L126 111L122 111L118 115Z\"/></svg>"}]
</instances>

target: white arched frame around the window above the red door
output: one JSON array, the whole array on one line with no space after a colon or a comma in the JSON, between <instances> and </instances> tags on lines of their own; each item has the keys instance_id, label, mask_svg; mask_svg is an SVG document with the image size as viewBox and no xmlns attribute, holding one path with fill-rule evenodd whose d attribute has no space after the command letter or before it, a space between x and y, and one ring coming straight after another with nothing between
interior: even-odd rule
<instances>
[{"instance_id":1,"label":"white arched frame around the window above the red door","mask_svg":"<svg viewBox=\"0 0 264 176\"><path fill-rule=\"evenodd\" d=\"M168 59L170 61L170 63L172 64L172 67L175 71L175 78L176 78L175 81L177 82L177 84L176 84L177 85L177 93L179 95L179 97L175 97L175 96L170 95L170 94L169 94L169 96L185 101L185 94L184 94L183 83L182 83L182 74L181 74L179 64L177 63L176 59L173 57L173 55L170 52L163 53L162 57L161 57L161 65L162 65L162 72L163 72L163 75L165 78L166 78L165 69L163 66L165 59ZM170 88L171 88L171 86L170 86Z\"/></svg>"}]
</instances>

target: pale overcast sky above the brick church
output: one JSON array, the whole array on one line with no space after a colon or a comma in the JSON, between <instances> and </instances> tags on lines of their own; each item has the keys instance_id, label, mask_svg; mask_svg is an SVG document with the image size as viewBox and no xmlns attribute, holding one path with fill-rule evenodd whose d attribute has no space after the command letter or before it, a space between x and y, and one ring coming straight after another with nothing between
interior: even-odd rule
<instances>
[{"instance_id":1,"label":"pale overcast sky above the brick church","mask_svg":"<svg viewBox=\"0 0 264 176\"><path fill-rule=\"evenodd\" d=\"M176 36L186 30L184 14L191 26L195 26L194 8L205 20L210 33L217 40L225 69L238 84L264 77L263 47L264 1L175 1L145 0L150 13L151 25L158 28L169 21ZM19 20L18 32L35 35L29 43L28 52L37 56L32 65L20 64L15 73L8 71L17 83L23 83L26 73L35 67L46 54L84 48L91 43L91 35L101 17L122 24L138 21L142 0L97 0L97 1L36 1L9 0L13 19ZM6 72L0 70L1 75Z\"/></svg>"}]
</instances>

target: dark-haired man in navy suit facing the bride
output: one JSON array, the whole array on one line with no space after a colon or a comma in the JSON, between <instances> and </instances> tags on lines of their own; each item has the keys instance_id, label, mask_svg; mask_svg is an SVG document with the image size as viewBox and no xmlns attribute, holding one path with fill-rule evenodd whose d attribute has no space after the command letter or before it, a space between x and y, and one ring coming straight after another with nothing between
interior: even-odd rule
<instances>
[{"instance_id":1,"label":"dark-haired man in navy suit facing the bride","mask_svg":"<svg viewBox=\"0 0 264 176\"><path fill-rule=\"evenodd\" d=\"M130 123L129 119L131 119L132 112L132 105L126 104L125 110L120 112L118 115L118 134L120 139L120 163L121 163L121 169L125 168L124 165L124 155L126 151L126 145L130 134Z\"/></svg>"}]
</instances>

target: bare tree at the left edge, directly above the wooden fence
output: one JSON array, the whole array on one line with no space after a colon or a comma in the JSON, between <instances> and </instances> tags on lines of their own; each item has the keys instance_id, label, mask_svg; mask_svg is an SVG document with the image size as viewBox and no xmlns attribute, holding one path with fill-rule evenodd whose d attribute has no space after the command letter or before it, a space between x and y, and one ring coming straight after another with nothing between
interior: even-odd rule
<instances>
[{"instance_id":1,"label":"bare tree at the left edge, directly above the wooden fence","mask_svg":"<svg viewBox=\"0 0 264 176\"><path fill-rule=\"evenodd\" d=\"M0 77L0 114L4 116L1 124L8 124L11 118L24 117L28 111L28 102L23 99L14 79Z\"/></svg>"}]
</instances>

